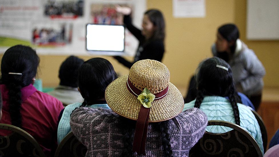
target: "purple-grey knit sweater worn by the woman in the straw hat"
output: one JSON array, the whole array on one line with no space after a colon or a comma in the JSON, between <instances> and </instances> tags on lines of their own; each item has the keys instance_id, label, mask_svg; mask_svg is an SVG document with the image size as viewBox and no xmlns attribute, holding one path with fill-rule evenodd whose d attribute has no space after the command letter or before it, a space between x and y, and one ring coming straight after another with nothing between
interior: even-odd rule
<instances>
[{"instance_id":1,"label":"purple-grey knit sweater worn by the woman in the straw hat","mask_svg":"<svg viewBox=\"0 0 279 157\"><path fill-rule=\"evenodd\" d=\"M198 108L190 108L168 123L173 156L188 156L205 132L207 116ZM120 126L127 124L113 111L80 107L72 112L70 125L75 136L87 147L86 156L121 156L124 146ZM151 123L146 156L164 156L161 135Z\"/></svg>"}]
</instances>

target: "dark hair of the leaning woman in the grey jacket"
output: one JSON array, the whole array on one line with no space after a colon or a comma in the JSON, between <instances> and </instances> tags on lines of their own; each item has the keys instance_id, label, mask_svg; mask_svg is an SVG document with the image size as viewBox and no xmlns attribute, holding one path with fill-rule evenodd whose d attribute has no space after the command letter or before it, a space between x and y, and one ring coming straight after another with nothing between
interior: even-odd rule
<instances>
[{"instance_id":1,"label":"dark hair of the leaning woman in the grey jacket","mask_svg":"<svg viewBox=\"0 0 279 157\"><path fill-rule=\"evenodd\" d=\"M233 45L230 46L230 51L234 54L236 49L236 40L239 38L239 31L236 25L233 23L222 25L218 28L218 33L220 33L228 42L233 41Z\"/></svg>"}]
</instances>

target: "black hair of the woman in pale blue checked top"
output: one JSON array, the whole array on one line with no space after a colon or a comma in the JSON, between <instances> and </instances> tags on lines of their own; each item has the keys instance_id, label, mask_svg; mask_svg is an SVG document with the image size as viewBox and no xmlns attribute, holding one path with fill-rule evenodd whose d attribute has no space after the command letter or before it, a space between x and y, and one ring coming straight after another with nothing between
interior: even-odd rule
<instances>
[{"instance_id":1,"label":"black hair of the woman in pale blue checked top","mask_svg":"<svg viewBox=\"0 0 279 157\"><path fill-rule=\"evenodd\" d=\"M105 89L116 78L113 66L107 59L91 58L85 61L78 72L78 86L84 98L81 106L92 105L105 98Z\"/></svg>"}]
</instances>

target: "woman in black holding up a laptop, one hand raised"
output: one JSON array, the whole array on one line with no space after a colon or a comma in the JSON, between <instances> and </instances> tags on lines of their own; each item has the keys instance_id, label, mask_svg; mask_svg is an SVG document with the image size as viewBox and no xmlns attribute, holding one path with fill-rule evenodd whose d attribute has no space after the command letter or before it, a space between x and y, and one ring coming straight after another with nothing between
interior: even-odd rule
<instances>
[{"instance_id":1,"label":"woman in black holding up a laptop, one hand raised","mask_svg":"<svg viewBox=\"0 0 279 157\"><path fill-rule=\"evenodd\" d=\"M124 24L139 40L139 46L133 62L129 62L120 56L114 58L128 68L142 59L162 61L165 52L165 20L162 12L157 9L147 10L142 20L142 30L139 30L132 24L131 8L116 6L116 11L125 15Z\"/></svg>"}]
</instances>

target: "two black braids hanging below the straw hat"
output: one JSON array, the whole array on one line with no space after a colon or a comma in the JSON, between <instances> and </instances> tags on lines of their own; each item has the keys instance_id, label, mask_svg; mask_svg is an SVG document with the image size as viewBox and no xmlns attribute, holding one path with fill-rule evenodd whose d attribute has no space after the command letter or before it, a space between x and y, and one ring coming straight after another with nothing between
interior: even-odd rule
<instances>
[{"instance_id":1,"label":"two black braids hanging below the straw hat","mask_svg":"<svg viewBox=\"0 0 279 157\"><path fill-rule=\"evenodd\" d=\"M121 117L121 121L122 125L120 125L119 127L121 130L123 130L124 135L124 147L122 151L122 156L130 157L133 155L133 137L135 133L136 121L123 117ZM170 135L168 133L169 120L163 122L149 123L149 125L152 125L156 132L160 133L165 156L172 156L173 152L170 145Z\"/></svg>"}]
</instances>

